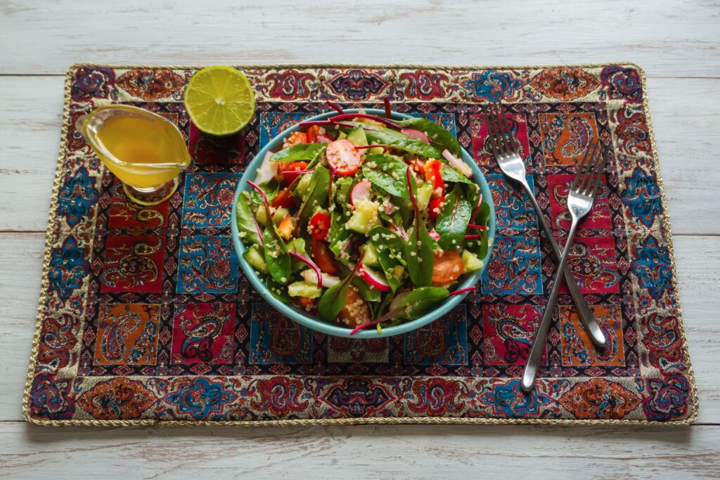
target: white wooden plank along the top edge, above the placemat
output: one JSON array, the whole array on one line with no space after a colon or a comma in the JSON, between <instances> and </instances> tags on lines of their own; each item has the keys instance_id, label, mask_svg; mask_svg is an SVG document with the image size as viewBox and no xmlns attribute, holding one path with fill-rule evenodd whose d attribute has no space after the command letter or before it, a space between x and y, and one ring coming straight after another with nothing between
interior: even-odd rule
<instances>
[{"instance_id":1,"label":"white wooden plank along the top edge, above the placemat","mask_svg":"<svg viewBox=\"0 0 720 480\"><path fill-rule=\"evenodd\" d=\"M247 3L247 2L246 2ZM181 4L181 5L180 5ZM6 0L0 73L102 63L526 65L633 60L652 76L720 76L711 0ZM179 60L181 59L181 60ZM412 59L412 60L410 60ZM688 68L692 65L692 68Z\"/></svg>"}]
</instances>

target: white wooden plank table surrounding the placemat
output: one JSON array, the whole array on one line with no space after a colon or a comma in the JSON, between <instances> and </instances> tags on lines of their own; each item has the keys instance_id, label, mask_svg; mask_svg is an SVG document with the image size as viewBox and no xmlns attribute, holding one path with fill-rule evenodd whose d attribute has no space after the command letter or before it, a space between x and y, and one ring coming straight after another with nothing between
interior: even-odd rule
<instances>
[{"instance_id":1,"label":"white wooden plank table surrounding the placemat","mask_svg":"<svg viewBox=\"0 0 720 480\"><path fill-rule=\"evenodd\" d=\"M466 6L450 0L250 3L0 0L0 476L720 476L720 5L700 0L531 0L522 6L505 0ZM63 73L71 63L623 60L638 63L648 76L680 299L700 390L696 425L92 430L22 422Z\"/></svg>"}]
</instances>

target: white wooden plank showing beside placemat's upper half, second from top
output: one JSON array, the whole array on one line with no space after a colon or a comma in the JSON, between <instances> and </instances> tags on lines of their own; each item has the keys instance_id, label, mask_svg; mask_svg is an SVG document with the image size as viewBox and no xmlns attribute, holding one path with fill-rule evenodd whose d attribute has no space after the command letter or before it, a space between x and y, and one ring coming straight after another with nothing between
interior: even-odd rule
<instances>
[{"instance_id":1,"label":"white wooden plank showing beside placemat's upper half, second from top","mask_svg":"<svg viewBox=\"0 0 720 480\"><path fill-rule=\"evenodd\" d=\"M673 232L720 234L720 79L656 78L648 90ZM45 230L62 103L61 77L0 77L0 230Z\"/></svg>"}]
</instances>

